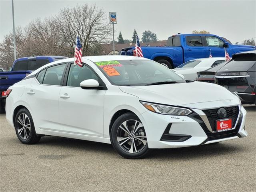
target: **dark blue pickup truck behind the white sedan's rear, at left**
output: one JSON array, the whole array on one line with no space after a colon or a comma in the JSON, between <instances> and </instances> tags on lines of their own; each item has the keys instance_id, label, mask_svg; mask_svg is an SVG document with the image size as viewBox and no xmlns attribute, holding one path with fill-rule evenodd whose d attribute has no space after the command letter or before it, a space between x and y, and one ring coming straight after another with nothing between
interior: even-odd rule
<instances>
[{"instance_id":1,"label":"dark blue pickup truck behind the white sedan's rear, at left","mask_svg":"<svg viewBox=\"0 0 256 192\"><path fill-rule=\"evenodd\" d=\"M11 71L0 72L0 113L5 111L5 93L8 87L25 78L32 71L60 59L66 59L63 56L36 56L18 58L12 64Z\"/></svg>"}]
</instances>

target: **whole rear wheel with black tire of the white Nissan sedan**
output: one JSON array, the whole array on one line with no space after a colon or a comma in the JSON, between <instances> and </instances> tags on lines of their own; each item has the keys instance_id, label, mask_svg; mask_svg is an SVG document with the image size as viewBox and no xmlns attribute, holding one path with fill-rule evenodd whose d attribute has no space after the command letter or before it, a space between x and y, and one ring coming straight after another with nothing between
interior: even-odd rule
<instances>
[{"instance_id":1,"label":"whole rear wheel with black tire of the white Nissan sedan","mask_svg":"<svg viewBox=\"0 0 256 192\"><path fill-rule=\"evenodd\" d=\"M14 119L16 135L23 144L35 144L41 136L36 135L34 122L30 112L26 108L18 111Z\"/></svg>"}]
</instances>

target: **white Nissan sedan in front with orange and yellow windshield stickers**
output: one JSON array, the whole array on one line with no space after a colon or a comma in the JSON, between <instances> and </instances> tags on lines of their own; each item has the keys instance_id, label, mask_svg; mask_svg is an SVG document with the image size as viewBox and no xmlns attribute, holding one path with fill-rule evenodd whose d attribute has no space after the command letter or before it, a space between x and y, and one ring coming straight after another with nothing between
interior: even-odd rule
<instances>
[{"instance_id":1,"label":"white Nissan sedan in front with orange and yellow windshield stickers","mask_svg":"<svg viewBox=\"0 0 256 192\"><path fill-rule=\"evenodd\" d=\"M187 82L133 56L49 63L7 90L6 119L23 144L60 136L112 144L125 158L153 148L210 144L247 136L246 111L216 84Z\"/></svg>"}]
</instances>

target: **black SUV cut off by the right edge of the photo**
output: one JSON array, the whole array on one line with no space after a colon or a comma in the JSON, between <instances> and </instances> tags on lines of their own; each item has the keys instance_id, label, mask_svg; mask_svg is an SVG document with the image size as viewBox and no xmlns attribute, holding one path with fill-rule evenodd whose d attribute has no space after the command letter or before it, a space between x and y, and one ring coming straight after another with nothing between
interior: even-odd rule
<instances>
[{"instance_id":1,"label":"black SUV cut off by the right edge of the photo","mask_svg":"<svg viewBox=\"0 0 256 192\"><path fill-rule=\"evenodd\" d=\"M236 94L242 104L256 104L256 50L234 54L217 71L215 83Z\"/></svg>"}]
</instances>

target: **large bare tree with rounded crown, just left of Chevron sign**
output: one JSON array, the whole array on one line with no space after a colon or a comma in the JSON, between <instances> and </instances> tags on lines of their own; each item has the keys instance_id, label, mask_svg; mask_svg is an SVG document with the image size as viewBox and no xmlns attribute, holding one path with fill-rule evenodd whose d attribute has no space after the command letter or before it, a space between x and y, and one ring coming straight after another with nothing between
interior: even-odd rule
<instances>
[{"instance_id":1,"label":"large bare tree with rounded crown, just left of Chevron sign","mask_svg":"<svg viewBox=\"0 0 256 192\"><path fill-rule=\"evenodd\" d=\"M83 55L94 55L100 44L110 40L111 26L106 15L96 5L84 4L74 8L64 8L56 16L62 40L74 50L76 35L81 39Z\"/></svg>"}]
</instances>

